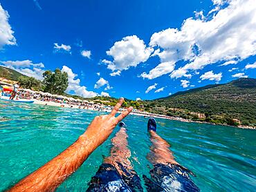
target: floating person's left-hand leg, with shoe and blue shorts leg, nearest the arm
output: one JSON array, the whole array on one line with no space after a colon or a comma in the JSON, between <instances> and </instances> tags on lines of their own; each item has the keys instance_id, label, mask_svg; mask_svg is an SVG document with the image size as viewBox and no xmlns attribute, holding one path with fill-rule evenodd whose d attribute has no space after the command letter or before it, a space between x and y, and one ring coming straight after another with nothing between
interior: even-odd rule
<instances>
[{"instance_id":1,"label":"floating person's left-hand leg, with shoe and blue shorts leg, nearest the arm","mask_svg":"<svg viewBox=\"0 0 256 192\"><path fill-rule=\"evenodd\" d=\"M140 178L129 161L131 151L127 148L125 124L111 140L111 155L104 159L96 175L92 177L87 191L143 191Z\"/></svg>"}]
</instances>

